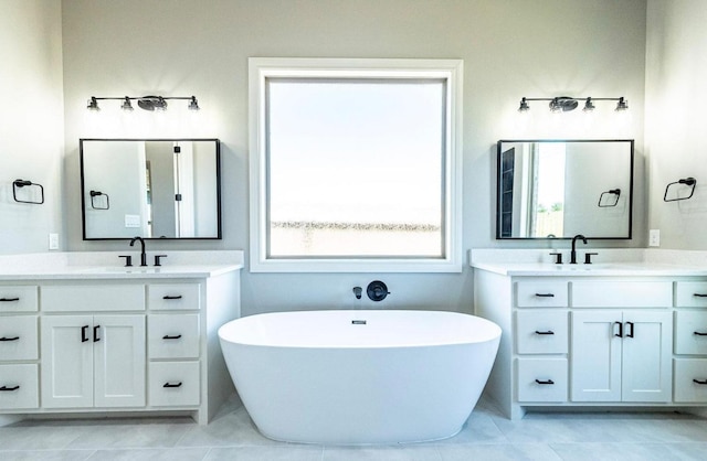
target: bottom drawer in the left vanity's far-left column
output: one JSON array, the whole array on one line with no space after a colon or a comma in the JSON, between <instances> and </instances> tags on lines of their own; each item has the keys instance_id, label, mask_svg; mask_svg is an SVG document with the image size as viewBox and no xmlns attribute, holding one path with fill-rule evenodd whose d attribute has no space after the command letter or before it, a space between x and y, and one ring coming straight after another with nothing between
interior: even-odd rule
<instances>
[{"instance_id":1,"label":"bottom drawer in the left vanity's far-left column","mask_svg":"<svg viewBox=\"0 0 707 461\"><path fill-rule=\"evenodd\" d=\"M39 408L35 364L0 365L0 410Z\"/></svg>"}]
</instances>

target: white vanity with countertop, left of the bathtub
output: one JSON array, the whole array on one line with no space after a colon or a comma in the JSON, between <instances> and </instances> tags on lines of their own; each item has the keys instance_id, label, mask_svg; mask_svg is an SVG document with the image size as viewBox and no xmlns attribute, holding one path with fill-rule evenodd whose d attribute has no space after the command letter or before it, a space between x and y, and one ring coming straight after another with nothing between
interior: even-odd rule
<instances>
[{"instance_id":1,"label":"white vanity with countertop, left of the bathtub","mask_svg":"<svg viewBox=\"0 0 707 461\"><path fill-rule=\"evenodd\" d=\"M161 267L120 267L112 253L3 258L0 415L158 411L207 424L233 393L217 330L240 317L243 254L194 264L190 253Z\"/></svg>"}]
</instances>

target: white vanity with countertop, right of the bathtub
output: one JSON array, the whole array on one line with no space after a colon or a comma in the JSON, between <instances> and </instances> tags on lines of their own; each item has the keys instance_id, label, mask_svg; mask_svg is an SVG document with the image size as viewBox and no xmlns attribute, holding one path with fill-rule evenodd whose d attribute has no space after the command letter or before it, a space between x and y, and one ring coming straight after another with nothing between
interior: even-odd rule
<instances>
[{"instance_id":1,"label":"white vanity with countertop, right of the bathtub","mask_svg":"<svg viewBox=\"0 0 707 461\"><path fill-rule=\"evenodd\" d=\"M503 329L486 392L506 416L707 406L707 269L646 259L472 258L475 313Z\"/></svg>"}]
</instances>

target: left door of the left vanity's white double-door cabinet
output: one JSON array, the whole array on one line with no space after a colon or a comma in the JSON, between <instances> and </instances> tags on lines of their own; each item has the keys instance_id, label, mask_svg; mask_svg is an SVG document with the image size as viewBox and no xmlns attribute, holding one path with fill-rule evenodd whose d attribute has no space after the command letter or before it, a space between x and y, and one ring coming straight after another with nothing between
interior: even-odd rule
<instances>
[{"instance_id":1,"label":"left door of the left vanity's white double-door cabinet","mask_svg":"<svg viewBox=\"0 0 707 461\"><path fill-rule=\"evenodd\" d=\"M91 315L42 318L42 406L93 406L93 341Z\"/></svg>"}]
</instances>

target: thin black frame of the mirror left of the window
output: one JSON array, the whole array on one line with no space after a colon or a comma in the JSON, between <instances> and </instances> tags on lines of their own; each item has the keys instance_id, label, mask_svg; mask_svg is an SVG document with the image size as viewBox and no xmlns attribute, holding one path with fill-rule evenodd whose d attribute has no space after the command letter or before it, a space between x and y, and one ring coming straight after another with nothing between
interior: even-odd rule
<instances>
[{"instance_id":1,"label":"thin black frame of the mirror left of the window","mask_svg":"<svg viewBox=\"0 0 707 461\"><path fill-rule=\"evenodd\" d=\"M221 215L221 141L218 138L80 138L78 164L81 168L81 227L84 240L126 240L126 237L86 236L86 191L84 183L84 141L210 141L215 146L217 167L217 236L215 237L143 237L145 240L220 240L223 238Z\"/></svg>"}]
</instances>

